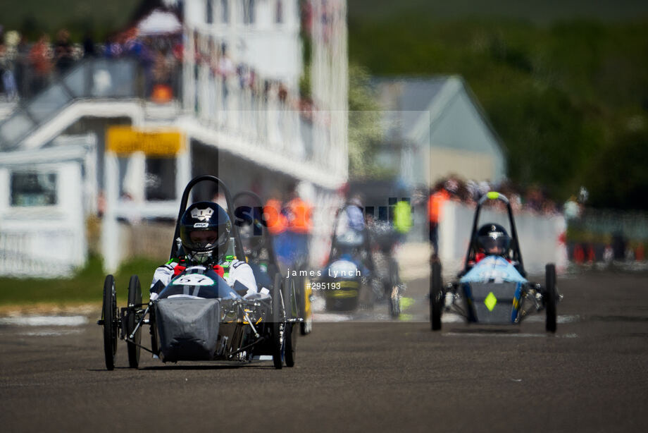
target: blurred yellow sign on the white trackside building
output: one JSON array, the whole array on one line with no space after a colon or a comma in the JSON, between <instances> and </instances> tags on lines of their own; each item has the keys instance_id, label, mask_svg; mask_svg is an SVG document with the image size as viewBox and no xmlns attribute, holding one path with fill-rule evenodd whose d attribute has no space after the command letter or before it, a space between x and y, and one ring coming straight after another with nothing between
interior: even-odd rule
<instances>
[{"instance_id":1,"label":"blurred yellow sign on the white trackside building","mask_svg":"<svg viewBox=\"0 0 648 433\"><path fill-rule=\"evenodd\" d=\"M132 126L110 126L106 130L106 152L172 157L184 150L184 138L177 130L138 130Z\"/></svg>"}]
</instances>

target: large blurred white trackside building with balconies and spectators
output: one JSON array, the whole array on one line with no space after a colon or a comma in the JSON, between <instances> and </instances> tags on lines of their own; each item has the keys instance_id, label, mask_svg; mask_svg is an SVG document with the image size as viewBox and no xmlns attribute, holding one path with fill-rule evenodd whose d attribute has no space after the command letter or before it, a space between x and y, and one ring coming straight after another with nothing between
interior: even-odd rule
<instances>
[{"instance_id":1,"label":"large blurred white trackside building with balconies and spectators","mask_svg":"<svg viewBox=\"0 0 648 433\"><path fill-rule=\"evenodd\" d=\"M348 166L346 1L163 3L145 1L104 56L0 110L0 274L82 265L96 214L112 272L137 253L133 223L175 219L200 174L232 193L301 182L316 209L336 200Z\"/></svg>"}]
</instances>

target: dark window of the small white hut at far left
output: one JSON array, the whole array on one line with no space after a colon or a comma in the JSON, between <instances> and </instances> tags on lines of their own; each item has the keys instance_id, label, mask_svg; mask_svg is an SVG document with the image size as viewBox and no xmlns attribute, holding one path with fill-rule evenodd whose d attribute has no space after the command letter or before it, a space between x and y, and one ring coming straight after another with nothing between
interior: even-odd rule
<instances>
[{"instance_id":1,"label":"dark window of the small white hut at far left","mask_svg":"<svg viewBox=\"0 0 648 433\"><path fill-rule=\"evenodd\" d=\"M56 173L11 173L11 206L56 205Z\"/></svg>"}]
</instances>

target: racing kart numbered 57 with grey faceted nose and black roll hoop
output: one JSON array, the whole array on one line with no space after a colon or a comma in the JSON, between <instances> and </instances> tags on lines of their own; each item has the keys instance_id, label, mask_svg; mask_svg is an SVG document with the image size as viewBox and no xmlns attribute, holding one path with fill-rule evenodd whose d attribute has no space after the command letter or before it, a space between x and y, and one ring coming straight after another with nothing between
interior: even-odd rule
<instances>
[{"instance_id":1,"label":"racing kart numbered 57 with grey faceted nose and black roll hoop","mask_svg":"<svg viewBox=\"0 0 648 433\"><path fill-rule=\"evenodd\" d=\"M192 187L200 181L216 183L223 191L231 221L235 221L228 188L215 176L198 176L187 184L178 212L170 258L184 254L180 243L180 219L187 209ZM241 238L232 224L233 253L244 258ZM158 298L142 303L139 278L131 276L128 304L118 310L115 279L106 276L101 319L106 368L113 370L118 339L127 346L128 365L139 366L140 350L157 356L162 362L181 360L224 360L249 362L273 360L275 368L294 366L293 341L285 338L288 328L299 322L287 317L284 307L285 279L280 272L272 275L271 295L257 293L242 297L211 266L187 267L163 288ZM287 303L294 300L288 299ZM142 328L149 326L151 347L142 345Z\"/></svg>"}]
</instances>

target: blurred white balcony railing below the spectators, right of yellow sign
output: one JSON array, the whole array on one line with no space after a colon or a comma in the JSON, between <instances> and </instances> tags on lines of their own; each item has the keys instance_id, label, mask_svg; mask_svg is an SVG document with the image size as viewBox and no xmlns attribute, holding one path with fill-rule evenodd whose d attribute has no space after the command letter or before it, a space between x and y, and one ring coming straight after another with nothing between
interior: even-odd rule
<instances>
[{"instance_id":1,"label":"blurred white balcony railing below the spectators, right of yellow sign","mask_svg":"<svg viewBox=\"0 0 648 433\"><path fill-rule=\"evenodd\" d=\"M185 111L195 111L202 126L281 154L287 164L309 164L346 178L346 143L335 142L340 134L332 128L339 122L331 121L341 114L301 111L277 84L242 86L237 75L214 74L208 66L199 66L197 80L187 80L185 86Z\"/></svg>"}]
</instances>

